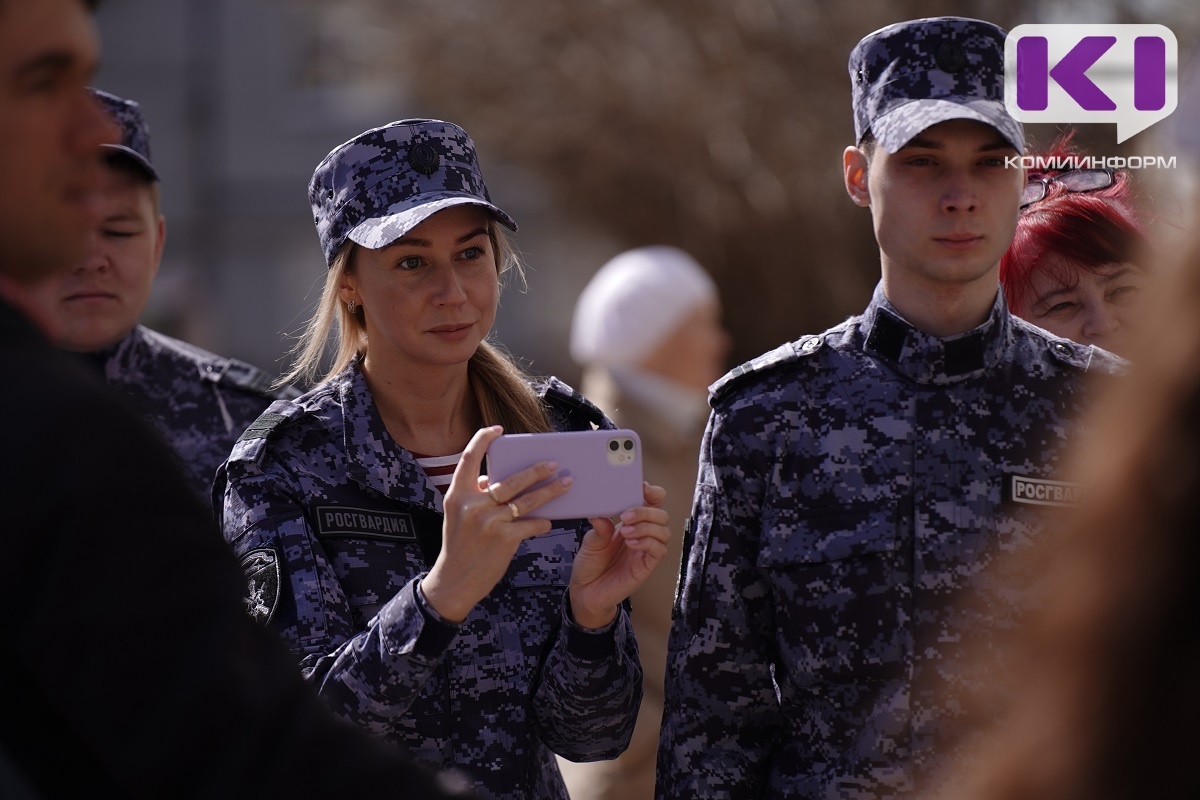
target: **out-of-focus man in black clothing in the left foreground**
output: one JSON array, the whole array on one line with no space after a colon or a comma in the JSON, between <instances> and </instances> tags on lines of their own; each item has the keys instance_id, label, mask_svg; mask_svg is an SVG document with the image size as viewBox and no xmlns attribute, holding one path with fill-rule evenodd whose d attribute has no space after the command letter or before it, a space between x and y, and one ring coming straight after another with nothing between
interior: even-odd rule
<instances>
[{"instance_id":1,"label":"out-of-focus man in black clothing in the left foreground","mask_svg":"<svg viewBox=\"0 0 1200 800\"><path fill-rule=\"evenodd\" d=\"M329 712L168 449L38 327L119 137L95 5L0 0L0 796L464 796Z\"/></svg>"}]
</instances>

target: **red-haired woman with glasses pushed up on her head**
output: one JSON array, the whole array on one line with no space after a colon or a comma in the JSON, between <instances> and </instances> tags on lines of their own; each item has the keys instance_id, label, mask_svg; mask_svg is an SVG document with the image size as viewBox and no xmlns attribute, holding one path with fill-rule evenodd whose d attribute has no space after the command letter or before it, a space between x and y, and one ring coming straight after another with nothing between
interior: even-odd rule
<instances>
[{"instance_id":1,"label":"red-haired woman with glasses pushed up on her head","mask_svg":"<svg viewBox=\"0 0 1200 800\"><path fill-rule=\"evenodd\" d=\"M1084 154L1073 138L1067 131L1034 154L1000 283L1018 317L1126 356L1153 257L1129 173L1074 167Z\"/></svg>"}]
</instances>

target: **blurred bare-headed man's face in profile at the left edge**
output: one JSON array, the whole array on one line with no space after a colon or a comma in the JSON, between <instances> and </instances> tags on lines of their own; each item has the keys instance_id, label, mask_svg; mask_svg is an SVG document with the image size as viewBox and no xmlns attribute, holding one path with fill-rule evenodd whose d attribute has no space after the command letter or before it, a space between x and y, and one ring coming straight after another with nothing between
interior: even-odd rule
<instances>
[{"instance_id":1,"label":"blurred bare-headed man's face in profile at the left edge","mask_svg":"<svg viewBox=\"0 0 1200 800\"><path fill-rule=\"evenodd\" d=\"M86 91L96 59L80 0L0 2L0 269L17 281L86 249L98 148L118 136Z\"/></svg>"}]
</instances>

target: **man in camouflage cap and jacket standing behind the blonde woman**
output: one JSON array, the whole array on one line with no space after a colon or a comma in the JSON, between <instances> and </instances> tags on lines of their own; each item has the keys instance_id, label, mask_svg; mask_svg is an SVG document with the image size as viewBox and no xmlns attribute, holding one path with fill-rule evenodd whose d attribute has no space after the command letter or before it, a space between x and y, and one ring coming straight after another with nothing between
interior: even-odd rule
<instances>
[{"instance_id":1,"label":"man in camouflage cap and jacket standing behind the blonde woman","mask_svg":"<svg viewBox=\"0 0 1200 800\"><path fill-rule=\"evenodd\" d=\"M91 92L120 127L120 143L101 148L104 168L90 198L95 223L88 254L40 283L32 300L59 347L80 354L134 401L209 503L212 476L241 432L276 397L299 392L272 391L271 377L260 369L138 324L167 235L160 175L138 103Z\"/></svg>"}]
</instances>

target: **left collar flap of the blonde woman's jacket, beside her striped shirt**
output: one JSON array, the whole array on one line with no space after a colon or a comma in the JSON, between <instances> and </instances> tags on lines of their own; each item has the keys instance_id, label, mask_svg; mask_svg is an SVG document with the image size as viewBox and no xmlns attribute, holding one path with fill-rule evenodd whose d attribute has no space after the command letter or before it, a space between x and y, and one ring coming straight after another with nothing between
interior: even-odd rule
<instances>
[{"instance_id":1,"label":"left collar flap of the blonde woman's jacket, beside her striped shirt","mask_svg":"<svg viewBox=\"0 0 1200 800\"><path fill-rule=\"evenodd\" d=\"M433 487L412 453L396 444L376 408L374 397L355 359L334 378L342 405L349 476L380 494L442 511L442 493Z\"/></svg>"}]
</instances>

